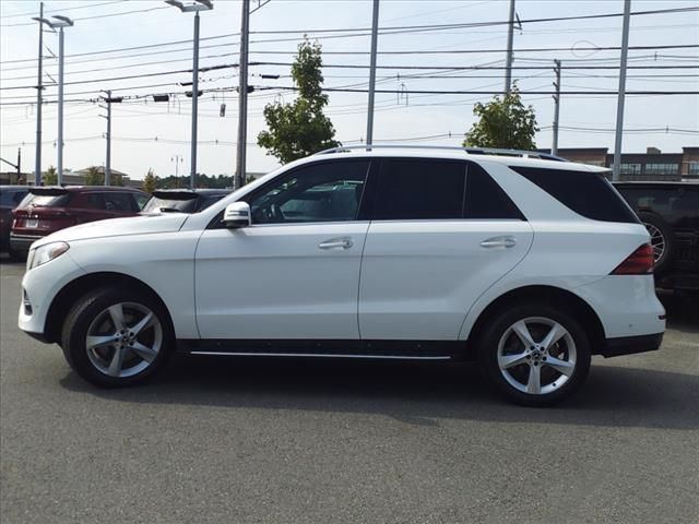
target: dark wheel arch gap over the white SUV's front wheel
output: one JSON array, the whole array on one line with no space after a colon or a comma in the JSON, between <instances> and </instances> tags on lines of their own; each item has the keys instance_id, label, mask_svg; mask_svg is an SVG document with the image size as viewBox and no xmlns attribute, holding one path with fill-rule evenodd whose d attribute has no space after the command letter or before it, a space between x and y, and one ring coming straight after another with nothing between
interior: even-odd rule
<instances>
[{"instance_id":1,"label":"dark wheel arch gap over the white SUV's front wheel","mask_svg":"<svg viewBox=\"0 0 699 524\"><path fill-rule=\"evenodd\" d=\"M93 289L108 286L145 294L149 298L156 301L163 308L163 311L167 313L166 321L169 323L169 327L173 329L173 317L169 309L151 286L123 273L98 272L82 275L71 281L56 295L46 315L44 333L47 342L60 343L61 329L75 300Z\"/></svg>"}]
</instances>

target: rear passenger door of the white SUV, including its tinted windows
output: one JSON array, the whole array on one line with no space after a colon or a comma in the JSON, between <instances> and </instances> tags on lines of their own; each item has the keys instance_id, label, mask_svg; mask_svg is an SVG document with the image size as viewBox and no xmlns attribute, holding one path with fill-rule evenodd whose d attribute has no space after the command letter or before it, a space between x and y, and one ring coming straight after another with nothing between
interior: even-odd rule
<instances>
[{"instance_id":1,"label":"rear passenger door of the white SUV, including its tinted windows","mask_svg":"<svg viewBox=\"0 0 699 524\"><path fill-rule=\"evenodd\" d=\"M384 159L362 261L362 338L457 340L473 302L522 260L532 238L477 164Z\"/></svg>"}]
</instances>

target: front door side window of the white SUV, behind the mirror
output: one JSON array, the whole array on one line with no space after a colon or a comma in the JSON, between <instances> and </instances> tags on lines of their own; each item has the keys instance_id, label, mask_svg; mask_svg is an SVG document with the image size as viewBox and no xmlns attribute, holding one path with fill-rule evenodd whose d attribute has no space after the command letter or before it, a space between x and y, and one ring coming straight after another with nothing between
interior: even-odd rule
<instances>
[{"instance_id":1,"label":"front door side window of the white SUV, behind the mirror","mask_svg":"<svg viewBox=\"0 0 699 524\"><path fill-rule=\"evenodd\" d=\"M295 169L250 195L252 224L354 221L368 169L368 160L325 162Z\"/></svg>"}]
</instances>

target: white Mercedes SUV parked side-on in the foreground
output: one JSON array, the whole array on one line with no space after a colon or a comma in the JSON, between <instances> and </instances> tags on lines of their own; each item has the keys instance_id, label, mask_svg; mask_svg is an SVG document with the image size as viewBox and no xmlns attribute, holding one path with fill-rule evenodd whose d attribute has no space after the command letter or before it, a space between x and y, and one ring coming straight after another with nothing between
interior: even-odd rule
<instances>
[{"instance_id":1,"label":"white Mercedes SUV parked side-on in the foreground","mask_svg":"<svg viewBox=\"0 0 699 524\"><path fill-rule=\"evenodd\" d=\"M58 231L32 247L20 327L102 386L176 348L477 359L526 405L578 389L591 355L659 348L649 235L603 169L452 150L334 150L199 213Z\"/></svg>"}]
</instances>

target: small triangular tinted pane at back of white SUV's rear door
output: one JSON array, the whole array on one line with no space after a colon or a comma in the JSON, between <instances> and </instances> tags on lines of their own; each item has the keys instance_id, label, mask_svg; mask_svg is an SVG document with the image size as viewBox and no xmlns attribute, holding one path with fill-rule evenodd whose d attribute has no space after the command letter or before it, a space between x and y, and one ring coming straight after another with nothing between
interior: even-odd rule
<instances>
[{"instance_id":1,"label":"small triangular tinted pane at back of white SUV's rear door","mask_svg":"<svg viewBox=\"0 0 699 524\"><path fill-rule=\"evenodd\" d=\"M524 219L502 188L476 164L469 164L464 217Z\"/></svg>"}]
</instances>

